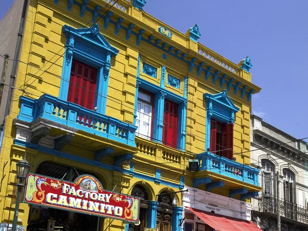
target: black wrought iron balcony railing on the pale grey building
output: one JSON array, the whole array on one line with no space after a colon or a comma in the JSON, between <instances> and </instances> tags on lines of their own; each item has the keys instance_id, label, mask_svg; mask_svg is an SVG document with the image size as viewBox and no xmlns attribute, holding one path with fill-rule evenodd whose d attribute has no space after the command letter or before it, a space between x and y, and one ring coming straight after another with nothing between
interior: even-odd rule
<instances>
[{"instance_id":1,"label":"black wrought iron balcony railing on the pale grey building","mask_svg":"<svg viewBox=\"0 0 308 231\"><path fill-rule=\"evenodd\" d=\"M308 224L307 207L283 199L277 200L272 195L259 198L259 211L277 214L277 201L280 204L280 216Z\"/></svg>"}]
</instances>

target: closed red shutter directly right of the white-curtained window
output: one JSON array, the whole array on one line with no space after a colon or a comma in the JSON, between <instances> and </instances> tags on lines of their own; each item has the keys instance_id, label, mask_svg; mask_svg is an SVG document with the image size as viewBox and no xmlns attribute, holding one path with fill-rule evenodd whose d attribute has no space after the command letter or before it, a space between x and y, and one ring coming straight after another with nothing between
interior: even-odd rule
<instances>
[{"instance_id":1,"label":"closed red shutter directly right of the white-curtained window","mask_svg":"<svg viewBox=\"0 0 308 231\"><path fill-rule=\"evenodd\" d=\"M165 100L163 143L169 147L177 148L178 138L178 104Z\"/></svg>"}]
</instances>

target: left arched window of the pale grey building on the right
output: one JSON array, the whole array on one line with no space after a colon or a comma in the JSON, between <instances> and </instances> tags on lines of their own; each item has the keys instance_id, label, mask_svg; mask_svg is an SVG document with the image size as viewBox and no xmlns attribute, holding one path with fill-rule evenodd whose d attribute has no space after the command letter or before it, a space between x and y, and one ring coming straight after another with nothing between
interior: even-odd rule
<instances>
[{"instance_id":1,"label":"left arched window of the pale grey building on the right","mask_svg":"<svg viewBox=\"0 0 308 231\"><path fill-rule=\"evenodd\" d=\"M274 169L275 166L268 160L261 160L262 164L262 194L274 195Z\"/></svg>"}]
</instances>

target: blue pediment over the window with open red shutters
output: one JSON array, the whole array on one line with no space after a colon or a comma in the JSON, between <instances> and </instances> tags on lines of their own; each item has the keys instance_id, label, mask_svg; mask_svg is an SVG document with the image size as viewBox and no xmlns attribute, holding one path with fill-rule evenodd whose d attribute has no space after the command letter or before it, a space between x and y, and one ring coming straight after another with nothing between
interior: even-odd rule
<instances>
[{"instance_id":1,"label":"blue pediment over the window with open red shutters","mask_svg":"<svg viewBox=\"0 0 308 231\"><path fill-rule=\"evenodd\" d=\"M239 108L228 97L226 89L218 94L203 94L206 100L207 119L216 119L223 123L234 123Z\"/></svg>"}]
</instances>

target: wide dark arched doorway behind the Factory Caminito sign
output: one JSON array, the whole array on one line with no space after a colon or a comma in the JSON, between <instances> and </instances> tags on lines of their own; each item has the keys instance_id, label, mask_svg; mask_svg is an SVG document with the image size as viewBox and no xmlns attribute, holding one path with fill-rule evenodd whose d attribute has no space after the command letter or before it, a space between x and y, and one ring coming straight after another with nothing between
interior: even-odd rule
<instances>
[{"instance_id":1,"label":"wide dark arched doorway behind the Factory Caminito sign","mask_svg":"<svg viewBox=\"0 0 308 231\"><path fill-rule=\"evenodd\" d=\"M52 162L41 163L35 173L71 182L74 182L80 175L87 174L96 177L92 172ZM97 216L30 205L27 231L49 230L50 227L52 230L61 231L96 231L102 223L103 219Z\"/></svg>"}]
</instances>

